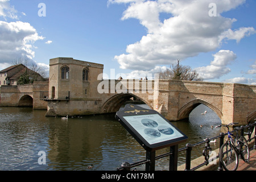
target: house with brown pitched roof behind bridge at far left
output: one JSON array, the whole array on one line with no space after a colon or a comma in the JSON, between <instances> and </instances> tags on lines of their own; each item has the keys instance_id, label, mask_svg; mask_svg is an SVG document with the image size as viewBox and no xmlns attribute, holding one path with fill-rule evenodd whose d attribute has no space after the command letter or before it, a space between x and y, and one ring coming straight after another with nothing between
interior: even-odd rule
<instances>
[{"instance_id":1,"label":"house with brown pitched roof behind bridge at far left","mask_svg":"<svg viewBox=\"0 0 256 182\"><path fill-rule=\"evenodd\" d=\"M45 81L39 73L32 71L23 64L17 64L0 71L0 86L19 85L19 78L25 73L27 73L28 79L32 82Z\"/></svg>"}]
</instances>

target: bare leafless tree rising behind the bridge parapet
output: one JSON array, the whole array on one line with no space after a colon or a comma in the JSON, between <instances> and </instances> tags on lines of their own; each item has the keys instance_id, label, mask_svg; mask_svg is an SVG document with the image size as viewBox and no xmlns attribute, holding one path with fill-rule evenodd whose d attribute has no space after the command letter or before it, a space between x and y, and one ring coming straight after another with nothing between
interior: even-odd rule
<instances>
[{"instance_id":1,"label":"bare leafless tree rising behind the bridge parapet","mask_svg":"<svg viewBox=\"0 0 256 182\"><path fill-rule=\"evenodd\" d=\"M187 65L181 65L180 60L177 63L170 65L170 68L164 72L159 73L160 79L166 80L189 80L189 81L203 81L195 70Z\"/></svg>"}]
</instances>

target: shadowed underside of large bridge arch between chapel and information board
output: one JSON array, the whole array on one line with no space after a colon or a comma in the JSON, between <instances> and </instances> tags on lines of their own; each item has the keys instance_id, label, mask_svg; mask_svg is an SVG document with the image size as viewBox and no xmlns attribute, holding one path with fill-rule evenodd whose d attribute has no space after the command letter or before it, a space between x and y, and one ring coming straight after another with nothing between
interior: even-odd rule
<instances>
[{"instance_id":1,"label":"shadowed underside of large bridge arch between chapel and information board","mask_svg":"<svg viewBox=\"0 0 256 182\"><path fill-rule=\"evenodd\" d=\"M115 113L120 109L120 107L126 102L129 101L131 97L137 97L141 101L143 101L145 104L147 104L151 109L152 107L150 104L147 103L147 101L143 100L143 98L138 97L134 94L131 93L120 93L120 94L115 94L113 97L110 97L103 105L101 108L102 113Z\"/></svg>"}]
</instances>

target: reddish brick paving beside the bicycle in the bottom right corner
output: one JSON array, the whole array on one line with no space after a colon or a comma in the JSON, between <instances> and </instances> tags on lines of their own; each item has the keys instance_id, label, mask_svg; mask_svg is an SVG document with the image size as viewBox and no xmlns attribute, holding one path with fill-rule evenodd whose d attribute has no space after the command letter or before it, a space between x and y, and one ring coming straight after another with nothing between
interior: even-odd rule
<instances>
[{"instance_id":1,"label":"reddish brick paving beside the bicycle in the bottom right corner","mask_svg":"<svg viewBox=\"0 0 256 182\"><path fill-rule=\"evenodd\" d=\"M256 171L256 150L250 151L250 162L245 163L239 159L237 171Z\"/></svg>"}]
</instances>

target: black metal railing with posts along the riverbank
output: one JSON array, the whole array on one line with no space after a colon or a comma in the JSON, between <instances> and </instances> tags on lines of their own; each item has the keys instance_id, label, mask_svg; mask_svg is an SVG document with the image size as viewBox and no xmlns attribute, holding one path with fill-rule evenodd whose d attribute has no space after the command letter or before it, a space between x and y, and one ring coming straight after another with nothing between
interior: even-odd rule
<instances>
[{"instance_id":1,"label":"black metal railing with posts along the riverbank","mask_svg":"<svg viewBox=\"0 0 256 182\"><path fill-rule=\"evenodd\" d=\"M251 137L251 134L253 134L253 130L254 130L255 126L256 126L256 122L252 123L252 124L249 124L249 125L246 125L246 126L241 126L241 127L239 127L239 129L237 127L236 130L231 131L231 133L240 131L240 135L241 136L248 135L247 142L250 142L251 140L254 139L254 146L253 146L253 148L256 149L256 139L255 139L256 138L255 137L256 131L254 133L254 137ZM246 129L248 130L247 132L245 132ZM212 148L210 147L210 141L219 139L220 140L220 147L221 147L222 144L224 143L224 138L225 138L226 135L228 135L228 133L225 133L225 134L221 133L217 137L207 138L203 142L199 142L199 143L195 143L195 144L187 143L185 145L185 147L180 148L178 150L178 152L181 152L181 151L185 151L186 152L185 171L195 171L196 169L198 169L200 167L207 166L213 160L218 159L219 155L217 155L215 158L212 158L212 159L209 158L210 152L212 151ZM204 150L202 152L205 161L203 163L199 164L198 166L191 168L191 154L192 154L192 150L193 150L194 147L201 146L201 144L205 144L205 148L204 148ZM161 158L164 158L164 157L167 157L167 156L172 156L172 155L174 155L174 152L167 152L165 154L156 156L155 160L158 160L158 159L161 159ZM133 163L133 164L129 164L129 163L125 162L125 163L123 163L121 165L121 167L117 168L117 170L118 171L130 171L132 168L137 167L137 166L141 166L141 165L146 164L146 163L150 163L150 160L148 160L148 159L141 160L141 161L139 161L137 163ZM219 171L223 170L223 168L221 166L221 163L219 163L218 170Z\"/></svg>"}]
</instances>

